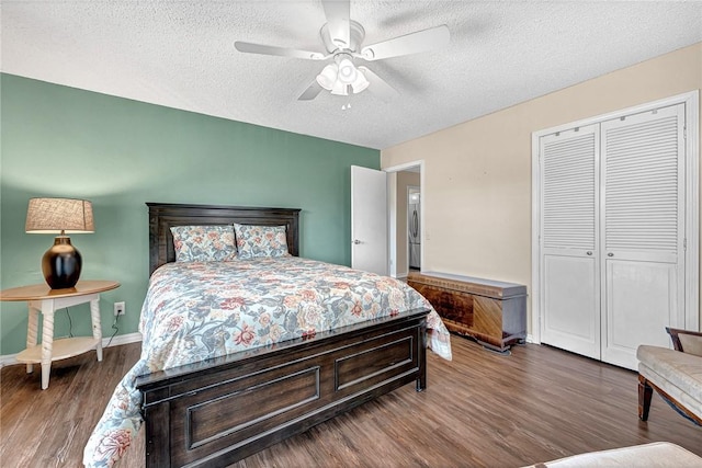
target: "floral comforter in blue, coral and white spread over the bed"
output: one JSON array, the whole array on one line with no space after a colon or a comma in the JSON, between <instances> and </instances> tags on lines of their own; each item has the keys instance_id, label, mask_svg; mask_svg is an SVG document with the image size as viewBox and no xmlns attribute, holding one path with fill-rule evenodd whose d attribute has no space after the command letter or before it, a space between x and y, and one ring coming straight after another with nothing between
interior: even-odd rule
<instances>
[{"instance_id":1,"label":"floral comforter in blue, coral and white spread over the bed","mask_svg":"<svg viewBox=\"0 0 702 468\"><path fill-rule=\"evenodd\" d=\"M112 466L141 425L138 376L427 307L429 347L451 359L431 305L397 279L295 256L169 263L154 272L139 331L141 356L117 385L83 452Z\"/></svg>"}]
</instances>

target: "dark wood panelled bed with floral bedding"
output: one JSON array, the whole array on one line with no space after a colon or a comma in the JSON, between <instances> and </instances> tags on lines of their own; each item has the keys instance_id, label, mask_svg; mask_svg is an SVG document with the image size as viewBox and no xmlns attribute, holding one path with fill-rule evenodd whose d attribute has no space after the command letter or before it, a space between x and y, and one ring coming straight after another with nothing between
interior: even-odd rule
<instances>
[{"instance_id":1,"label":"dark wood panelled bed with floral bedding","mask_svg":"<svg viewBox=\"0 0 702 468\"><path fill-rule=\"evenodd\" d=\"M150 284L139 326L141 358L115 389L91 435L87 466L112 466L141 421L146 466L227 466L400 386L415 383L417 391L423 390L427 345L451 358L445 327L414 289L389 277L299 259L299 209L147 205ZM237 231L235 260L177 262L183 248L173 229L178 235L197 226L278 229L285 254L245 261L250 246L240 243L246 231ZM193 306L200 303L189 297L195 289L191 285L202 275L210 296L205 306ZM310 282L317 277L321 283L315 289ZM372 283L377 288L363 289L363 299L349 303L363 300L358 310L344 306L356 294L348 277L358 277L353 287ZM263 295L254 298L264 285ZM327 297L327 289L336 295ZM213 294L224 298L213 299ZM298 304L305 298L317 306ZM176 307L168 307L169 300L188 304L188 320L171 312ZM341 312L309 311L331 309L332 303ZM283 309L301 312L290 319ZM197 313L207 317L193 321ZM273 316L294 323L273 333ZM215 327L217 318L222 323ZM267 328L252 329L254 321ZM197 335L204 345L194 344L192 323L206 329Z\"/></svg>"}]
</instances>

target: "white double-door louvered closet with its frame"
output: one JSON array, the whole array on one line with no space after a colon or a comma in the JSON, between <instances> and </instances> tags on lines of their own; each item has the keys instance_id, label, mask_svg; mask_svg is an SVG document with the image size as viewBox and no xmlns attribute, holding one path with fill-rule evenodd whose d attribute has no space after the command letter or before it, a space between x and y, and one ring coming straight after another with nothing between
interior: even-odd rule
<instances>
[{"instance_id":1,"label":"white double-door louvered closet with its frame","mask_svg":"<svg viewBox=\"0 0 702 468\"><path fill-rule=\"evenodd\" d=\"M699 327L691 103L672 101L534 134L542 343L634 369L666 327Z\"/></svg>"}]
</instances>

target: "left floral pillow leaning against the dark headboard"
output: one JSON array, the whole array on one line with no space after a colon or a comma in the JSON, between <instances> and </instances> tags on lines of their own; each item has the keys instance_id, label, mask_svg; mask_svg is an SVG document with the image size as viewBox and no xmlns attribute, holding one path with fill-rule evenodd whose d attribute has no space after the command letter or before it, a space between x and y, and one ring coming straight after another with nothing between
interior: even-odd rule
<instances>
[{"instance_id":1,"label":"left floral pillow leaning against the dark headboard","mask_svg":"<svg viewBox=\"0 0 702 468\"><path fill-rule=\"evenodd\" d=\"M237 256L231 225L174 226L171 233L177 262L227 262Z\"/></svg>"}]
</instances>

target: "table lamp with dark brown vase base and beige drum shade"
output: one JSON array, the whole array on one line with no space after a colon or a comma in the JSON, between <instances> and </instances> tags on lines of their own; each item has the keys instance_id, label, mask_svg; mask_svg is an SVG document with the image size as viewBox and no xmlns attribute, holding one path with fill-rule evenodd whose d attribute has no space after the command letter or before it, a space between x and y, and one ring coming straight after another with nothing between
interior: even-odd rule
<instances>
[{"instance_id":1,"label":"table lamp with dark brown vase base and beige drum shade","mask_svg":"<svg viewBox=\"0 0 702 468\"><path fill-rule=\"evenodd\" d=\"M76 286L82 259L66 233L94 232L92 204L87 199L31 198L25 231L58 233L42 258L44 279L52 289Z\"/></svg>"}]
</instances>

